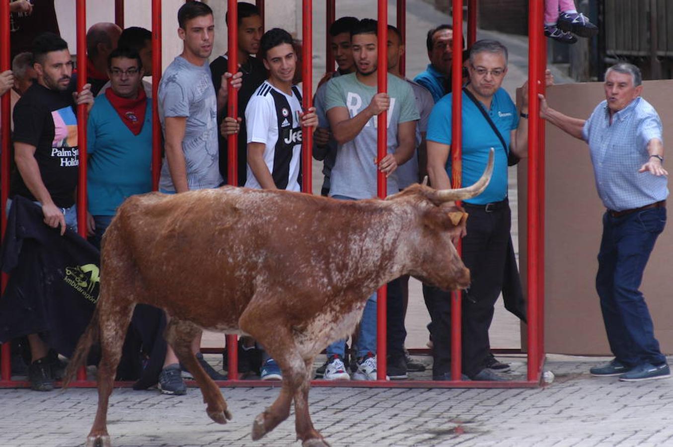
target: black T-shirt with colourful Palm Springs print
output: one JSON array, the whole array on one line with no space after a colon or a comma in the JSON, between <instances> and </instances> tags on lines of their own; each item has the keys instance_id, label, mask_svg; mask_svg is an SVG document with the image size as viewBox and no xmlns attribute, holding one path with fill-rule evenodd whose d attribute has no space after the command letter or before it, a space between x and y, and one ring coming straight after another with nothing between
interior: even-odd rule
<instances>
[{"instance_id":1,"label":"black T-shirt with colourful Palm Springs print","mask_svg":"<svg viewBox=\"0 0 673 447\"><path fill-rule=\"evenodd\" d=\"M14 107L13 141L36 147L42 182L61 208L75 204L79 150L74 106L71 92L34 83ZM36 200L18 170L13 172L10 194Z\"/></svg>"}]
</instances>

